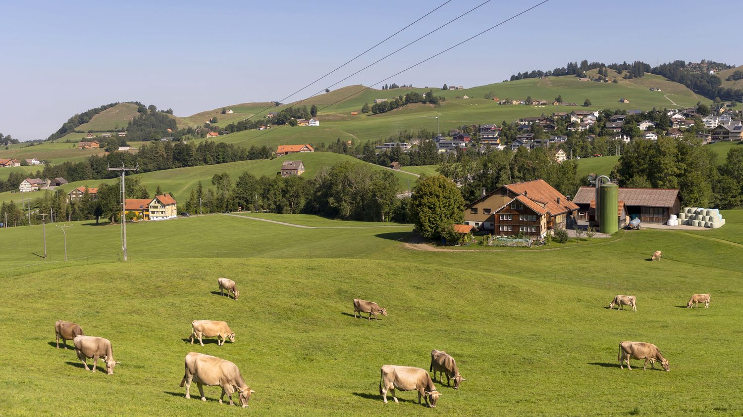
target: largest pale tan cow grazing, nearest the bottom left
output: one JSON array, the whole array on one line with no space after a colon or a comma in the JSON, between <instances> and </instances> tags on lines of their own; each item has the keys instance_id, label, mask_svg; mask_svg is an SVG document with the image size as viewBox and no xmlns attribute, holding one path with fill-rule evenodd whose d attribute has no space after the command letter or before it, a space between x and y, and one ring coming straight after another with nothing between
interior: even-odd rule
<instances>
[{"instance_id":1,"label":"largest pale tan cow grazing, nearest the bottom left","mask_svg":"<svg viewBox=\"0 0 743 417\"><path fill-rule=\"evenodd\" d=\"M250 400L250 394L255 393L245 384L240 375L240 370L236 364L216 356L204 355L197 352L189 352L185 360L186 372L181 381L181 387L186 385L186 398L191 398L189 390L191 381L196 381L198 393L201 394L201 401L207 401L204 397L204 385L207 387L219 386L222 388L222 395L219 395L219 404L222 404L224 394L230 398L230 405L234 405L232 395L235 391L239 392L242 407L247 407L247 401Z\"/></svg>"}]
</instances>

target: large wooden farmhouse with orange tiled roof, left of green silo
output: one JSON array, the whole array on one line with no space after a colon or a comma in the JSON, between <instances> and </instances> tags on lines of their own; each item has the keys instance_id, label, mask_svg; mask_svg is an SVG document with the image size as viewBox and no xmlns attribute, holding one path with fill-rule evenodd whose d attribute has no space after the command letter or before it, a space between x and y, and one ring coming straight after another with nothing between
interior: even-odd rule
<instances>
[{"instance_id":1,"label":"large wooden farmhouse with orange tiled roof, left of green silo","mask_svg":"<svg viewBox=\"0 0 743 417\"><path fill-rule=\"evenodd\" d=\"M493 234L544 237L548 230L565 229L578 206L545 180L502 185L464 209L464 223Z\"/></svg>"}]
</instances>

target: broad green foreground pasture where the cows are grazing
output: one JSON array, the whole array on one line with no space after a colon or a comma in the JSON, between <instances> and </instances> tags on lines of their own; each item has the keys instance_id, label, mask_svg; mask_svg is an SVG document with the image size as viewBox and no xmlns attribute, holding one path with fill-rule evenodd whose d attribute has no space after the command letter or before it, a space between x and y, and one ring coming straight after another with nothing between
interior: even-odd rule
<instances>
[{"instance_id":1,"label":"broad green foreground pasture where the cows are grazing","mask_svg":"<svg viewBox=\"0 0 743 417\"><path fill-rule=\"evenodd\" d=\"M643 229L551 250L430 252L398 241L409 226L299 229L215 214L129 226L126 265L115 262L117 226L67 229L68 263L59 262L59 230L47 228L42 260L34 255L41 226L0 229L13 242L0 252L4 413L58 413L54 398L93 386L96 395L66 404L65 413L239 412L217 403L218 387L204 388L207 402L184 398L178 384L193 351L238 365L256 390L251 415L421 416L431 410L413 403L415 393L382 403L380 367L428 370L431 349L444 349L467 381L460 390L435 381L435 413L740 415L743 395L730 381L743 376L743 212L723 215L728 224L708 232ZM658 249L663 260L649 262ZM238 301L215 294L218 277L236 280ZM710 309L685 308L698 292L713 294ZM637 312L609 311L616 294L636 295ZM354 319L353 298L377 301L389 315ZM72 350L54 348L59 319L111 340L121 361L114 375L85 372ZM227 321L235 343L188 344L198 319ZM643 372L640 361L620 370L625 340L656 344L672 372Z\"/></svg>"}]
</instances>

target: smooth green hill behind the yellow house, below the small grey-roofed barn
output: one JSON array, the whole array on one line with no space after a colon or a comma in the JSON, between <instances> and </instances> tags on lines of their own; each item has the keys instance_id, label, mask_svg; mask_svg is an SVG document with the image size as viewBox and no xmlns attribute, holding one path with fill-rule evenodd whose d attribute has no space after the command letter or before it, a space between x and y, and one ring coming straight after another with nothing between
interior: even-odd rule
<instances>
[{"instance_id":1,"label":"smooth green hill behind the yellow house, below the small grey-roofed barn","mask_svg":"<svg viewBox=\"0 0 743 417\"><path fill-rule=\"evenodd\" d=\"M134 174L134 176L139 177L142 180L142 183L146 185L150 194L154 194L155 190L158 188L158 185L160 185L160 188L162 188L163 191L173 193L176 200L184 201L188 198L191 190L196 188L196 185L199 181L201 181L201 183L205 187L210 187L211 180L214 174L227 172L228 174L230 174L230 178L233 180L233 183L244 171L248 171L250 172L250 174L253 174L256 177L262 177L263 175L270 177L276 175L277 172L281 171L281 165L284 163L285 160L301 160L302 162L304 162L306 171L304 174L302 174L302 177L308 179L314 178L315 174L322 166L331 166L341 162L367 164L370 165L372 168L379 170L387 169L379 165L369 164L368 162L357 160L356 158L349 157L348 155L333 154L331 152L312 152L296 155L294 157L276 158L274 160L251 160L229 162L216 165L192 166L187 168L166 169L163 171L152 171L143 174ZM410 182L410 187L412 188L412 186L415 185L415 181L418 180L418 177L407 172L397 170L391 171L398 179L400 191L407 189L408 181ZM100 183L115 183L117 181L117 179L77 181L74 183L62 185L61 187L59 187L59 189L62 189L65 192L69 192L76 187L95 187ZM22 194L18 192L6 191L4 193L0 193L0 203L10 200L19 202L22 197L38 198L42 196L43 192L44 191L36 191L32 193Z\"/></svg>"}]
</instances>

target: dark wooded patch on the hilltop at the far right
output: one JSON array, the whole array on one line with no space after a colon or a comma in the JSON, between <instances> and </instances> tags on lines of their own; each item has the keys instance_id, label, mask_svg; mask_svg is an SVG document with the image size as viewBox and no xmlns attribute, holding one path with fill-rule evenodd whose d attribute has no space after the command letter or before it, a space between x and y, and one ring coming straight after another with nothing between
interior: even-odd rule
<instances>
[{"instance_id":1,"label":"dark wooded patch on the hilltop at the far right","mask_svg":"<svg viewBox=\"0 0 743 417\"><path fill-rule=\"evenodd\" d=\"M743 90L721 87L722 80L720 77L709 72L690 70L684 61L661 64L653 68L650 72L664 76L673 82L686 85L691 91L701 94L708 99L720 97L725 101L739 101L743 96Z\"/></svg>"}]
</instances>

